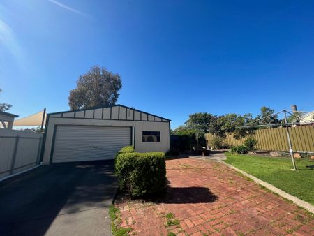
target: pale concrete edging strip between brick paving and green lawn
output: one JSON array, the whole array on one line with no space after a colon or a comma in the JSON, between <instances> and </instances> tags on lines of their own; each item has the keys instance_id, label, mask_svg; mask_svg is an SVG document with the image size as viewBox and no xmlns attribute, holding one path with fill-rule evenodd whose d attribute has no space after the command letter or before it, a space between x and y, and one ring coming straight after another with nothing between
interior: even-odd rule
<instances>
[{"instance_id":1,"label":"pale concrete edging strip between brick paving and green lawn","mask_svg":"<svg viewBox=\"0 0 314 236\"><path fill-rule=\"evenodd\" d=\"M267 182L262 181L261 179L258 179L257 177L254 177L253 175L248 174L247 172L244 172L243 170L240 170L236 167L234 167L233 165L230 165L229 163L225 163L225 161L221 161L224 165L227 165L228 167L237 170L237 172L240 172L242 175L249 177L250 179L252 179L255 183L260 184L262 186L264 186L265 188L269 189L270 191L273 191L274 193L277 193L279 196L283 197L283 198L287 198L287 200L290 200L292 202L294 202L296 205L298 205L299 207L303 207L304 209L308 210L308 212L311 212L314 214L314 206L311 205L308 202L304 202L304 200L301 200L295 196L292 196L289 193L286 193L285 191L276 188L274 185L269 184Z\"/></svg>"}]
</instances>

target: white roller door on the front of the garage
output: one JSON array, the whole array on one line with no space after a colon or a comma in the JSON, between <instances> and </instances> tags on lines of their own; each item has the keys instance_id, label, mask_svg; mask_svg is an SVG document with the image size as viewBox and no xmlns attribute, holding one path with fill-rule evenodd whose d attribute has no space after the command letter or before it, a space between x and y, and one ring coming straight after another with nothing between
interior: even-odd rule
<instances>
[{"instance_id":1,"label":"white roller door on the front of the garage","mask_svg":"<svg viewBox=\"0 0 314 236\"><path fill-rule=\"evenodd\" d=\"M52 162L113 159L130 145L131 128L116 126L57 126Z\"/></svg>"}]
</instances>

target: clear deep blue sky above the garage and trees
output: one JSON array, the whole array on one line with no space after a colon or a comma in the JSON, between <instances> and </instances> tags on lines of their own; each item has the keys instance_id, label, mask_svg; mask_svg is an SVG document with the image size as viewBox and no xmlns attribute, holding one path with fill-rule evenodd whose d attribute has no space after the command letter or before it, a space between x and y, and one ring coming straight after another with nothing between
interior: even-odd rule
<instances>
[{"instance_id":1,"label":"clear deep blue sky above the garage and trees","mask_svg":"<svg viewBox=\"0 0 314 236\"><path fill-rule=\"evenodd\" d=\"M68 110L95 64L118 103L172 119L314 108L314 1L1 0L0 102Z\"/></svg>"}]
</instances>

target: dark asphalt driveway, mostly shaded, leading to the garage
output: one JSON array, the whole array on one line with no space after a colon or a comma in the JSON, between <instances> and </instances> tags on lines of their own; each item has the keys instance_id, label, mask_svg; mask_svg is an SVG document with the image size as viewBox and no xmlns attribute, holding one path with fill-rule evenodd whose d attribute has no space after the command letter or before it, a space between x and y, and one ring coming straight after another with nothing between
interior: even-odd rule
<instances>
[{"instance_id":1,"label":"dark asphalt driveway, mostly shaded, leading to the garage","mask_svg":"<svg viewBox=\"0 0 314 236\"><path fill-rule=\"evenodd\" d=\"M0 182L0 235L111 235L114 161L45 165Z\"/></svg>"}]
</instances>

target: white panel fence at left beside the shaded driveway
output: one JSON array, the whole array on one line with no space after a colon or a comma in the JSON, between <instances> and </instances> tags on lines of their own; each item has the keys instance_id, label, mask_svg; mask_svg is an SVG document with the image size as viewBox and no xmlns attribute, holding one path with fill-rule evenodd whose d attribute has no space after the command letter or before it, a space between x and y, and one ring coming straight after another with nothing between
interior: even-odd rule
<instances>
[{"instance_id":1,"label":"white panel fence at left beside the shaded driveway","mask_svg":"<svg viewBox=\"0 0 314 236\"><path fill-rule=\"evenodd\" d=\"M0 128L0 179L39 165L43 134Z\"/></svg>"}]
</instances>

